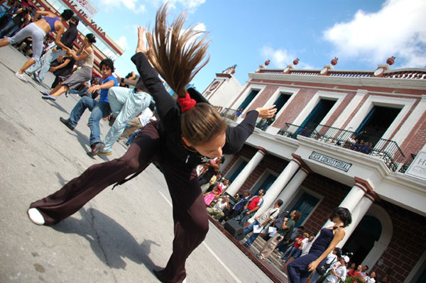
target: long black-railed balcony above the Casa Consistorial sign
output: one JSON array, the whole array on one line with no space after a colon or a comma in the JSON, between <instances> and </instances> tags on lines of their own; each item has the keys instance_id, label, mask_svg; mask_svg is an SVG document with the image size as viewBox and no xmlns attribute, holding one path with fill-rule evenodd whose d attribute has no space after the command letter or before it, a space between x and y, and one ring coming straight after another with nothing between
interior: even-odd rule
<instances>
[{"instance_id":1,"label":"long black-railed balcony above the Casa Consistorial sign","mask_svg":"<svg viewBox=\"0 0 426 283\"><path fill-rule=\"evenodd\" d=\"M285 123L285 127L278 131L278 135L294 139L297 139L297 135L302 135L322 143L376 156L381 158L389 170L393 172L398 170L398 164L405 160L405 155L395 141L346 131L341 128L324 125L308 125L302 128L297 125Z\"/></svg>"}]
</instances>

